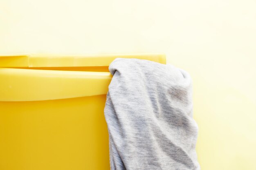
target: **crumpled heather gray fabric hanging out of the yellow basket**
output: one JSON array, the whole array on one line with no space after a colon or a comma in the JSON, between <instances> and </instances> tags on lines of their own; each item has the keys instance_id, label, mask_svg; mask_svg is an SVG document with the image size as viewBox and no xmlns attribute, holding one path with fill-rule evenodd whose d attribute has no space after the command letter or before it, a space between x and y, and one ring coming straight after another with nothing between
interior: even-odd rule
<instances>
[{"instance_id":1,"label":"crumpled heather gray fabric hanging out of the yellow basket","mask_svg":"<svg viewBox=\"0 0 256 170\"><path fill-rule=\"evenodd\" d=\"M117 58L104 114L111 170L200 170L191 77L170 64Z\"/></svg>"}]
</instances>

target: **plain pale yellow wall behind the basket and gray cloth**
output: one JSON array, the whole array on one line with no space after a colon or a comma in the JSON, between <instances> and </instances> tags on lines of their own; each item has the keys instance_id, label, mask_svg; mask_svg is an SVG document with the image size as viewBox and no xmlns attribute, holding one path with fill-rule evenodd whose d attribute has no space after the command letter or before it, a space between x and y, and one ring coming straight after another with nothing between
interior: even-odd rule
<instances>
[{"instance_id":1,"label":"plain pale yellow wall behind the basket and gray cloth","mask_svg":"<svg viewBox=\"0 0 256 170\"><path fill-rule=\"evenodd\" d=\"M166 53L193 78L202 170L256 169L255 0L0 0L6 53Z\"/></svg>"}]
</instances>

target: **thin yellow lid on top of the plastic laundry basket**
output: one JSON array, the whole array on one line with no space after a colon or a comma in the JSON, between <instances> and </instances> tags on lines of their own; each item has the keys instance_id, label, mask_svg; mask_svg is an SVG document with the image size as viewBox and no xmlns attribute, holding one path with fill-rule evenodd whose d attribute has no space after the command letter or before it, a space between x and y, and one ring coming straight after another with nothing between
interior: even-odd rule
<instances>
[{"instance_id":1,"label":"thin yellow lid on top of the plastic laundry basket","mask_svg":"<svg viewBox=\"0 0 256 170\"><path fill-rule=\"evenodd\" d=\"M0 67L79 67L108 66L115 58L138 58L166 63L164 54L114 55L7 55L0 56Z\"/></svg>"}]
</instances>

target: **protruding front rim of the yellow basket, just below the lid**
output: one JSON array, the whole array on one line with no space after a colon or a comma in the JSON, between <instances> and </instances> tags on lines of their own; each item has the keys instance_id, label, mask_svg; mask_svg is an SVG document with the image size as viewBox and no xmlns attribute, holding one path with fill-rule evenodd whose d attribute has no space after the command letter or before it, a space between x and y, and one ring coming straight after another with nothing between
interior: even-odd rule
<instances>
[{"instance_id":1,"label":"protruding front rim of the yellow basket, just below the lid","mask_svg":"<svg viewBox=\"0 0 256 170\"><path fill-rule=\"evenodd\" d=\"M38 101L103 95L109 72L0 68L0 101Z\"/></svg>"}]
</instances>

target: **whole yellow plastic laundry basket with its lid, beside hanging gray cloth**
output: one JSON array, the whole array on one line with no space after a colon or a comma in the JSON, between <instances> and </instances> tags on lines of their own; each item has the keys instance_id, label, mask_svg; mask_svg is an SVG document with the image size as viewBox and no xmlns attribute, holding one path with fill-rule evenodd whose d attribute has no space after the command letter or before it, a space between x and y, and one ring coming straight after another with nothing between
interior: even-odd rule
<instances>
[{"instance_id":1,"label":"whole yellow plastic laundry basket with its lid, beside hanging gray cloth","mask_svg":"<svg viewBox=\"0 0 256 170\"><path fill-rule=\"evenodd\" d=\"M108 170L104 106L117 57L0 56L0 170Z\"/></svg>"}]
</instances>

